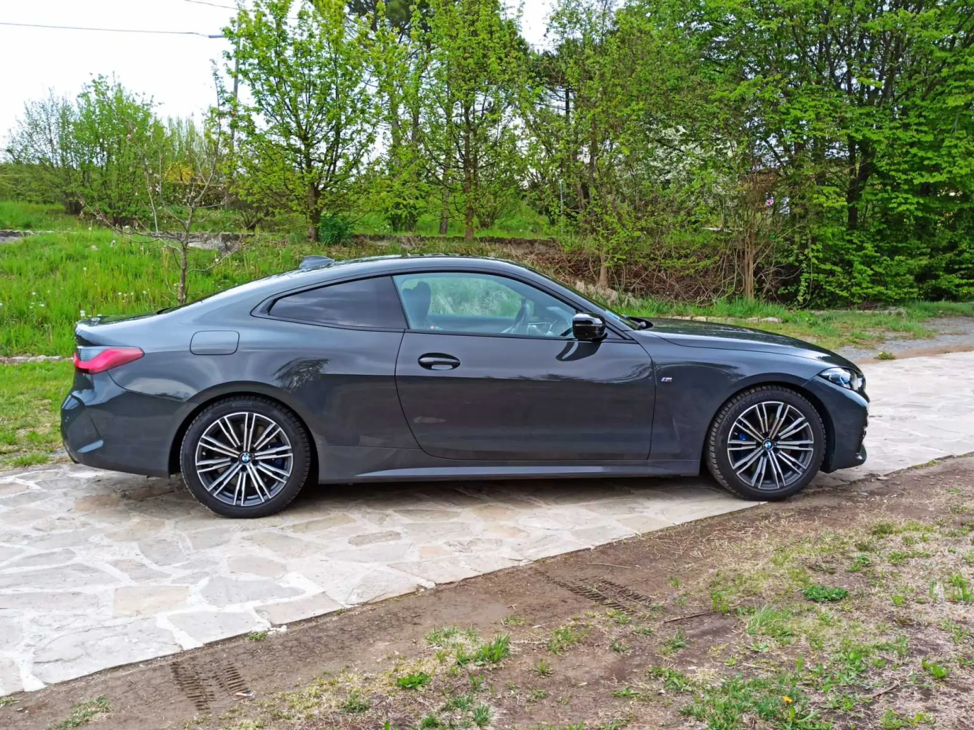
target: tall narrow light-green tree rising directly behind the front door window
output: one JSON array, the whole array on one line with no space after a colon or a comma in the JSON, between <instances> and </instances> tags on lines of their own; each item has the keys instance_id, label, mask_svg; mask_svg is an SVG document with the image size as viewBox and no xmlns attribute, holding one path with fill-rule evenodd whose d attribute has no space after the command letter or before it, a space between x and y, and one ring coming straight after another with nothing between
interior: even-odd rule
<instances>
[{"instance_id":1,"label":"tall narrow light-green tree rising directly behind the front door window","mask_svg":"<svg viewBox=\"0 0 974 730\"><path fill-rule=\"evenodd\" d=\"M431 0L425 141L431 177L464 217L464 236L519 197L519 93L527 74L517 23L498 0Z\"/></svg>"}]
</instances>

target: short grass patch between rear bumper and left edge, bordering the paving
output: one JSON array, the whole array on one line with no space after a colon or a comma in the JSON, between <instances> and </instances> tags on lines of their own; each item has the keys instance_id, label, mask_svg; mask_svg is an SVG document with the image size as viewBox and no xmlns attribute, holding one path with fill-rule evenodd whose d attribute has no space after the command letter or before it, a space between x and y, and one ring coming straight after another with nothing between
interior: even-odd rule
<instances>
[{"instance_id":1,"label":"short grass patch between rear bumper and left edge, bordering the paving","mask_svg":"<svg viewBox=\"0 0 974 730\"><path fill-rule=\"evenodd\" d=\"M73 377L70 362L0 365L0 466L44 463L60 447L58 411Z\"/></svg>"}]
</instances>

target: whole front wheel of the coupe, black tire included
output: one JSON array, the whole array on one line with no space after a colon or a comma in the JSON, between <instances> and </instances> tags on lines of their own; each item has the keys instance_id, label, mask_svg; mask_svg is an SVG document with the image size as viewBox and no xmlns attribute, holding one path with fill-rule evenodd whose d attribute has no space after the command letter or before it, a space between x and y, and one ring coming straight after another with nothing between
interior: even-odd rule
<instances>
[{"instance_id":1,"label":"whole front wheel of the coupe, black tire included","mask_svg":"<svg viewBox=\"0 0 974 730\"><path fill-rule=\"evenodd\" d=\"M768 404L773 404L773 407L769 409ZM791 436L786 437L787 440L768 439L767 436L774 432L776 420L766 420L768 428L764 431L760 427L756 427L755 434L743 432L744 429L738 419L746 414L744 418L747 422L758 426L761 421L758 414L764 413L767 416L769 410L772 415L777 414L776 407L778 405L795 409L805 418L806 427L800 424L793 411L786 408L782 409L787 415L786 418L793 417L794 422L801 426L801 432L798 433L796 440L790 440L795 438ZM781 426L778 433L785 434L789 429L790 426ZM765 436L766 438L759 441L756 436ZM733 446L731 446L731 437L733 437ZM752 440L760 444L758 448L753 450L749 446ZM810 445L804 443L808 440L812 441ZM771 443L770 447L767 446L768 442ZM780 444L787 444L788 446L780 446ZM793 444L800 445L794 446ZM754 452L758 452L757 456ZM786 456L782 456L782 453ZM731 454L737 458L736 461L731 461ZM738 457L737 454L741 456ZM822 417L815 407L799 393L779 385L759 385L732 397L724 404L711 423L704 447L704 459L707 467L722 487L744 499L760 501L785 499L804 490L821 468L824 455L825 426L822 423ZM804 465L804 471L800 474L799 469L792 466L791 461L785 461L786 457ZM748 458L755 458L756 460L753 464L741 467L741 464ZM758 473L759 464L766 461L766 467L770 466L773 472L770 477L765 472ZM771 466L772 461L777 465L777 470ZM790 471L786 473L781 468L781 464L785 464ZM738 471L734 470L735 465L743 472L743 477ZM752 467L753 472L751 471ZM781 474L780 480L778 474ZM748 476L751 477L750 480L744 478ZM772 482L769 481L771 477L773 478ZM786 477L793 477L794 479L788 481Z\"/></svg>"}]
</instances>

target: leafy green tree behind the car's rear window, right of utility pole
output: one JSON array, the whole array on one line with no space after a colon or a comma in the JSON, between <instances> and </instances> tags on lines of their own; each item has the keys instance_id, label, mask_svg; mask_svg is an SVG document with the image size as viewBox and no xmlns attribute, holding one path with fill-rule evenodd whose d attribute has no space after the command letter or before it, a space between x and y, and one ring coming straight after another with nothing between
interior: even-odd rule
<instances>
[{"instance_id":1,"label":"leafy green tree behind the car's rear window, right of utility pole","mask_svg":"<svg viewBox=\"0 0 974 730\"><path fill-rule=\"evenodd\" d=\"M244 200L266 198L302 214L318 239L324 211L349 209L356 176L375 140L367 86L367 25L346 22L341 0L256 0L224 34L234 44L227 72L244 87L228 97L239 130Z\"/></svg>"}]
</instances>

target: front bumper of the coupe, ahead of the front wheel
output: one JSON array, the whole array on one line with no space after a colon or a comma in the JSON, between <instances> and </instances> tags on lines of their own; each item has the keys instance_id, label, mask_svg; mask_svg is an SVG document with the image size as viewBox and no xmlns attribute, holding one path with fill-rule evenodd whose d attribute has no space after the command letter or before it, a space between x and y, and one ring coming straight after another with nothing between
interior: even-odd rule
<instances>
[{"instance_id":1,"label":"front bumper of the coupe, ahead of the front wheel","mask_svg":"<svg viewBox=\"0 0 974 730\"><path fill-rule=\"evenodd\" d=\"M866 461L866 427L869 425L869 400L865 395L815 377L805 389L818 399L825 411L828 449L822 471L849 469Z\"/></svg>"}]
</instances>

